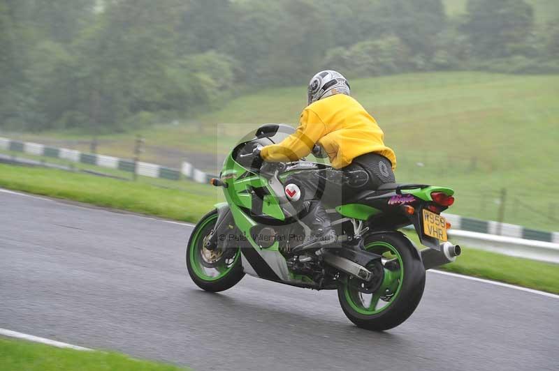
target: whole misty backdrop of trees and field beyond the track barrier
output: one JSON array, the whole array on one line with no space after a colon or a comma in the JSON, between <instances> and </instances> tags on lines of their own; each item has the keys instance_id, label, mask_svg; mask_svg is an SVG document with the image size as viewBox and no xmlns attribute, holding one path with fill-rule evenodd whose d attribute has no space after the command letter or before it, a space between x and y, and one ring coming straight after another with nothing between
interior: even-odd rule
<instances>
[{"instance_id":1,"label":"whole misty backdrop of trees and field beyond the track barrier","mask_svg":"<svg viewBox=\"0 0 559 371\"><path fill-rule=\"evenodd\" d=\"M1 0L0 135L216 173L250 128L296 125L335 69L397 181L552 231L558 56L553 0Z\"/></svg>"}]
</instances>

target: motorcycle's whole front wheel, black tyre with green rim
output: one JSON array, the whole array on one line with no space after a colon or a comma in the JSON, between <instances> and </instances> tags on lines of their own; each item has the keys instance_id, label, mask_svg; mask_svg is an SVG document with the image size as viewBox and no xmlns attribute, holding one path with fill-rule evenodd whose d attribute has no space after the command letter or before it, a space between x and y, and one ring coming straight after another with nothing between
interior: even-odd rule
<instances>
[{"instance_id":1,"label":"motorcycle's whole front wheel, black tyre with green rim","mask_svg":"<svg viewBox=\"0 0 559 371\"><path fill-rule=\"evenodd\" d=\"M240 262L240 248L224 247L216 250L205 248L205 239L215 228L217 210L202 217L190 235L187 245L187 269L190 278L205 291L220 292L230 289L245 273Z\"/></svg>"}]
</instances>

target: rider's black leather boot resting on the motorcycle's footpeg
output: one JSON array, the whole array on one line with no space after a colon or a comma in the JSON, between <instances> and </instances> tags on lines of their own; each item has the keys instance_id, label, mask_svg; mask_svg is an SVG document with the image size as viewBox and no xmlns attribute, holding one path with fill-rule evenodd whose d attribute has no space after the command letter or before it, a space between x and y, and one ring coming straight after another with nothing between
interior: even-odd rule
<instances>
[{"instance_id":1,"label":"rider's black leather boot resting on the motorcycle's footpeg","mask_svg":"<svg viewBox=\"0 0 559 371\"><path fill-rule=\"evenodd\" d=\"M311 229L311 235L310 239L293 248L294 253L306 248L321 248L336 241L336 232L324 206L319 201L307 201L305 204L309 212L301 221Z\"/></svg>"}]
</instances>

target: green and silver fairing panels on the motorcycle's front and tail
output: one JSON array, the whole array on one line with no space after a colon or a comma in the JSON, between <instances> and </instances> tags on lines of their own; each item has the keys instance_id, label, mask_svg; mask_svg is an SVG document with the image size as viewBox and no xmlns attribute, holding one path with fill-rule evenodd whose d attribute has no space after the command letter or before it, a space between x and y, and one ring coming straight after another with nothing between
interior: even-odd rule
<instances>
[{"instance_id":1,"label":"green and silver fairing panels on the motorcycle's front and tail","mask_svg":"<svg viewBox=\"0 0 559 371\"><path fill-rule=\"evenodd\" d=\"M285 130L286 135L284 137L294 132L294 129L290 126L278 126ZM257 222L259 218L267 218L267 220L277 222L279 225L289 218L289 214L284 211L284 203L289 204L289 202L286 201L283 193L279 194L279 192L284 192L283 181L286 179L288 172L276 173L275 179L269 180L259 174L256 169L252 169L251 166L243 166L235 160L235 156L238 156L240 149L249 142L254 141L262 144L263 140L270 139L268 144L277 143L282 139L281 136L259 136L257 130L254 137L245 139L247 139L245 142L240 142L228 154L220 173L220 179L226 185L223 188L226 204L231 209L233 220L243 242L241 245L242 268L249 275L291 285L316 288L313 286L316 285L316 282L310 276L295 274L290 271L286 264L286 257L279 251L279 241L274 241L273 244L263 247L251 234L252 230L259 228L260 225ZM264 145L266 145L266 141ZM324 165L324 161L319 160L317 163ZM275 188L270 184L272 181L275 182ZM279 186L281 186L281 189ZM431 192L445 192L447 195L453 195L453 190L446 187L429 186L427 188L401 190L402 194L413 195L417 199L423 200L423 202L432 201ZM392 193L386 195L380 202L382 206L378 207L376 207L376 204L372 206L370 203L358 201L337 205L335 206L335 211L338 213L337 218L354 218L356 220L383 218L386 204L391 195ZM223 206L223 203L216 205L216 207ZM412 224L409 219L399 220L398 222L402 225ZM402 227L402 225L394 226L394 230ZM373 230L370 232L373 232Z\"/></svg>"}]
</instances>

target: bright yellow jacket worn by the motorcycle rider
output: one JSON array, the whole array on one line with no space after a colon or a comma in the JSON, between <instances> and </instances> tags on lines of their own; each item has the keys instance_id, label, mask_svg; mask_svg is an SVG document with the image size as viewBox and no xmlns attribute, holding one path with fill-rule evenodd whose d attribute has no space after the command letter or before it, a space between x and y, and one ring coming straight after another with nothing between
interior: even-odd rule
<instances>
[{"instance_id":1,"label":"bright yellow jacket worn by the motorcycle rider","mask_svg":"<svg viewBox=\"0 0 559 371\"><path fill-rule=\"evenodd\" d=\"M300 116L297 131L282 142L261 151L270 162L296 161L307 156L318 143L333 167L347 166L364 153L379 153L396 167L394 151L384 145L384 132L377 121L354 98L336 94L307 106Z\"/></svg>"}]
</instances>

